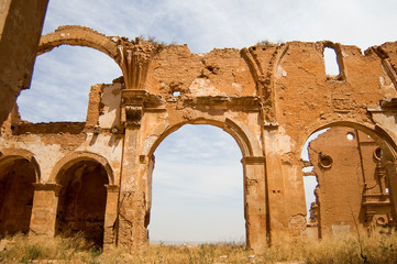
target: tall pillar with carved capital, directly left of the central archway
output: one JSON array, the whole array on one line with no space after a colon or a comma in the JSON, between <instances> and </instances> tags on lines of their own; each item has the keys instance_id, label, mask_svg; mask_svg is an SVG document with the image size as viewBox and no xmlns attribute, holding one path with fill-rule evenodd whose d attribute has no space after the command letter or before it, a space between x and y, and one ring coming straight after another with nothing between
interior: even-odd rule
<instances>
[{"instance_id":1,"label":"tall pillar with carved capital, directly left of the central archway","mask_svg":"<svg viewBox=\"0 0 397 264\"><path fill-rule=\"evenodd\" d=\"M122 122L125 127L122 174L120 184L118 245L131 253L140 250L148 241L145 227L147 173L145 158L139 155L141 143L141 120L144 113L145 90L123 90Z\"/></svg>"}]
</instances>

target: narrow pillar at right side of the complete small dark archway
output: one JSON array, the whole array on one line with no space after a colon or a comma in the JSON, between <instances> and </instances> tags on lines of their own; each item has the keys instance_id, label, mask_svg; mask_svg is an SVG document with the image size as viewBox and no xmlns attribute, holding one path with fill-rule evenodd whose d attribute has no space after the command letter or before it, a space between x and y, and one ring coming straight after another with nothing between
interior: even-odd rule
<instances>
[{"instance_id":1,"label":"narrow pillar at right side of the complete small dark archway","mask_svg":"<svg viewBox=\"0 0 397 264\"><path fill-rule=\"evenodd\" d=\"M118 202L119 202L119 186L106 185L107 187L107 206L104 210L103 223L103 251L111 249L115 245L115 228L118 217Z\"/></svg>"}]
</instances>

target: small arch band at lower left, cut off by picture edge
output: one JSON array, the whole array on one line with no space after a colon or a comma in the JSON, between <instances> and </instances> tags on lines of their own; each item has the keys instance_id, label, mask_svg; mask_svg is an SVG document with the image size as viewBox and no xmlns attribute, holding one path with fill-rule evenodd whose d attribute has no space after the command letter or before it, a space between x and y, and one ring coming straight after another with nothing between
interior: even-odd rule
<instances>
[{"instance_id":1,"label":"small arch band at lower left, cut off by picture edge","mask_svg":"<svg viewBox=\"0 0 397 264\"><path fill-rule=\"evenodd\" d=\"M0 168L7 166L8 164L16 160L26 160L32 163L35 172L36 183L40 183L41 170L37 160L34 157L34 154L30 151L22 148L4 148L0 152Z\"/></svg>"}]
</instances>

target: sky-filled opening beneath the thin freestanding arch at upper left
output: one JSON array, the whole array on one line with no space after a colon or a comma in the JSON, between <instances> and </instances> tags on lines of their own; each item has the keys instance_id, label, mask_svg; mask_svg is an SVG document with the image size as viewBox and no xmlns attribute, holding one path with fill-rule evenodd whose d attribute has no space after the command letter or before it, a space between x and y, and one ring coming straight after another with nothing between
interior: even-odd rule
<instances>
[{"instance_id":1,"label":"sky-filled opening beneath the thin freestanding arch at upper left","mask_svg":"<svg viewBox=\"0 0 397 264\"><path fill-rule=\"evenodd\" d=\"M21 119L85 122L90 87L121 75L111 57L91 47L63 45L44 53L36 57L31 88L16 99Z\"/></svg>"}]
</instances>

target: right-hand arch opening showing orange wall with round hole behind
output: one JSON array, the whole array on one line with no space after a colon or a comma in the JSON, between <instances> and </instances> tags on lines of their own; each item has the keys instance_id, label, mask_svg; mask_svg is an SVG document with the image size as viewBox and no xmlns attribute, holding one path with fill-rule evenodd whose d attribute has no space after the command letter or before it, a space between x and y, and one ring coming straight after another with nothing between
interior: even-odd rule
<instances>
[{"instance_id":1,"label":"right-hand arch opening showing orange wall with round hole behind","mask_svg":"<svg viewBox=\"0 0 397 264\"><path fill-rule=\"evenodd\" d=\"M330 125L313 133L302 150L308 228L317 237L345 237L360 230L390 231L390 163L395 160L382 134L360 125ZM306 158L304 157L306 156ZM310 186L310 187L309 187ZM308 198L311 196L311 198Z\"/></svg>"}]
</instances>

